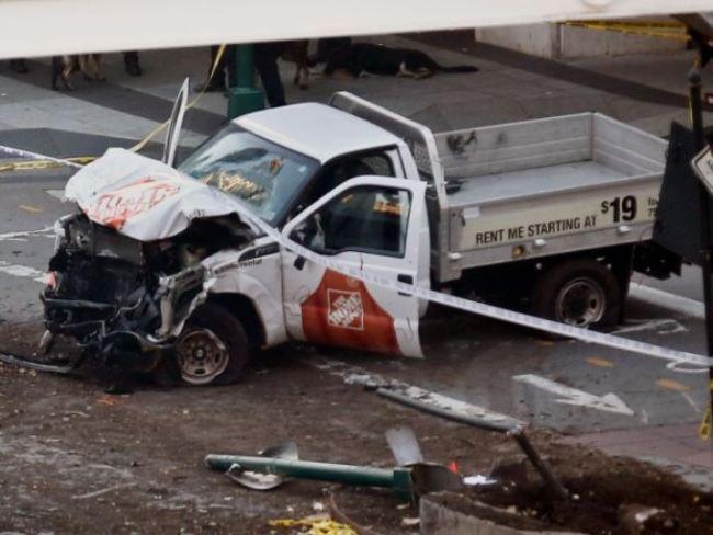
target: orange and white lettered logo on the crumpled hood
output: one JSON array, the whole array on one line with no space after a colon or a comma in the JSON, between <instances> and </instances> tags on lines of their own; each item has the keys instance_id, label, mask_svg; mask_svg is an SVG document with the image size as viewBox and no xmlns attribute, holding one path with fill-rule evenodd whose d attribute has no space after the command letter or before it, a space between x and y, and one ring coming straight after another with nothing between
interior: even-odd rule
<instances>
[{"instance_id":1,"label":"orange and white lettered logo on the crumpled hood","mask_svg":"<svg viewBox=\"0 0 713 535\"><path fill-rule=\"evenodd\" d=\"M101 195L88 215L92 220L118 230L127 219L149 210L179 190L170 180L142 179Z\"/></svg>"}]
</instances>

